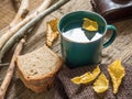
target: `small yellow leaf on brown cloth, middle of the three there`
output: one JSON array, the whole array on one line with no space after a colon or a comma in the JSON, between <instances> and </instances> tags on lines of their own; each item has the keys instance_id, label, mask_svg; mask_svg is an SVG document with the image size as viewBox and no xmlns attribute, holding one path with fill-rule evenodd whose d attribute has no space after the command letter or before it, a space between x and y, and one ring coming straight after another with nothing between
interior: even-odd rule
<instances>
[{"instance_id":1,"label":"small yellow leaf on brown cloth, middle of the three there","mask_svg":"<svg viewBox=\"0 0 132 99\"><path fill-rule=\"evenodd\" d=\"M102 73L98 79L94 82L94 90L98 94L105 92L109 88L109 80Z\"/></svg>"}]
</instances>

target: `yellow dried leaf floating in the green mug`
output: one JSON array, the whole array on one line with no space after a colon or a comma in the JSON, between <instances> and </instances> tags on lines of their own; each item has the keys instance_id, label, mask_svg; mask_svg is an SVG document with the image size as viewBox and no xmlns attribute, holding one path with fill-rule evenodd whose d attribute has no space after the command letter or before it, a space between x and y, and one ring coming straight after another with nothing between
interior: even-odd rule
<instances>
[{"instance_id":1,"label":"yellow dried leaf floating in the green mug","mask_svg":"<svg viewBox=\"0 0 132 99\"><path fill-rule=\"evenodd\" d=\"M98 23L90 19L84 18L82 29L87 31L98 31Z\"/></svg>"}]
</instances>

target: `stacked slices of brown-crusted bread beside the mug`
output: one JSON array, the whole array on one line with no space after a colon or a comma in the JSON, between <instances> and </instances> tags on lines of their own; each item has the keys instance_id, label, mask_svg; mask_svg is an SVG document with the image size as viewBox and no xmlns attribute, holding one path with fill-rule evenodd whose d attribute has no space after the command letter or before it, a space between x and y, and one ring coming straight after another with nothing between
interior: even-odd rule
<instances>
[{"instance_id":1,"label":"stacked slices of brown-crusted bread beside the mug","mask_svg":"<svg viewBox=\"0 0 132 99\"><path fill-rule=\"evenodd\" d=\"M62 58L47 46L21 55L16 59L20 79L35 92L42 92L52 86L62 64Z\"/></svg>"}]
</instances>

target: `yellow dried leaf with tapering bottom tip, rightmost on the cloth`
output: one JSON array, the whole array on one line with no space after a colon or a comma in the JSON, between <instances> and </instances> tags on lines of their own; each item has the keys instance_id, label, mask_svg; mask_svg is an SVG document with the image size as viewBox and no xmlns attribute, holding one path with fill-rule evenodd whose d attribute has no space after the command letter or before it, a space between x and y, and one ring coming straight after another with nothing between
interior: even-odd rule
<instances>
[{"instance_id":1,"label":"yellow dried leaf with tapering bottom tip, rightmost on the cloth","mask_svg":"<svg viewBox=\"0 0 132 99\"><path fill-rule=\"evenodd\" d=\"M118 59L109 65L108 70L113 82L113 94L117 94L125 75L124 67L121 65L121 61Z\"/></svg>"}]
</instances>

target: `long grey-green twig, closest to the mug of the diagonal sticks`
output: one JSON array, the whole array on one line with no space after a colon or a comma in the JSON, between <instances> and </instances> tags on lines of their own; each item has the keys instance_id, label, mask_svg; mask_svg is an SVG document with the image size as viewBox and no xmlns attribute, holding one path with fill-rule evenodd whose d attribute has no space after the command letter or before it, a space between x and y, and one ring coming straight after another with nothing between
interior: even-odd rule
<instances>
[{"instance_id":1,"label":"long grey-green twig, closest to the mug of the diagonal sticks","mask_svg":"<svg viewBox=\"0 0 132 99\"><path fill-rule=\"evenodd\" d=\"M25 33L28 33L26 31L29 29L31 29L34 24L36 24L36 22L38 22L40 20L42 20L45 15L52 13L53 11L55 11L56 9L58 9L59 7L62 7L63 4L65 4L66 2L68 2L69 0L59 0L58 2L56 2L55 4L53 4L52 7L50 7L48 9L46 9L45 11L41 12L36 18L34 18L33 20L31 20L29 23L26 23L24 26L22 26L2 47L1 52L0 52L0 61L2 59L3 55L6 54L6 52L11 48L11 46L13 46L13 44L20 40L23 35L25 35Z\"/></svg>"}]
</instances>

